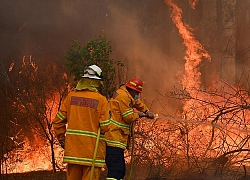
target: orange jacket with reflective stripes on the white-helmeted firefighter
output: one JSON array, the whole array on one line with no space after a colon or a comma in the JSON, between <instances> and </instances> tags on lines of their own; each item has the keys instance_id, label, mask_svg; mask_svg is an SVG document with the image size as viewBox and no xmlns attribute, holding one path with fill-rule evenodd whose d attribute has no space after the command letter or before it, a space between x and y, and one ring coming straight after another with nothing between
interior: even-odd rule
<instances>
[{"instance_id":1,"label":"orange jacket with reflective stripes on the white-helmeted firefighter","mask_svg":"<svg viewBox=\"0 0 250 180\"><path fill-rule=\"evenodd\" d=\"M108 123L108 101L98 91L85 89L69 93L53 120L57 139L65 142L63 162L91 166L100 127L95 166L102 167L106 153L104 133L108 131Z\"/></svg>"}]
</instances>

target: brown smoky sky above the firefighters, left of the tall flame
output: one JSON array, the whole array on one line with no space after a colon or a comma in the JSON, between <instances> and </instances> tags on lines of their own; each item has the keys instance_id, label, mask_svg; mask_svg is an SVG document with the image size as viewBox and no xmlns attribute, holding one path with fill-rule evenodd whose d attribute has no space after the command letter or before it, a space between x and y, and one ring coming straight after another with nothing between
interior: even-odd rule
<instances>
[{"instance_id":1,"label":"brown smoky sky above the firefighters, left of the tall flame","mask_svg":"<svg viewBox=\"0 0 250 180\"><path fill-rule=\"evenodd\" d=\"M44 62L60 59L72 40L83 44L104 34L111 41L112 58L126 66L124 81L138 77L145 82L145 102L153 106L161 97L157 91L165 94L178 86L184 49L162 0L0 0L0 4L0 58L6 65L21 62L24 55Z\"/></svg>"}]
</instances>

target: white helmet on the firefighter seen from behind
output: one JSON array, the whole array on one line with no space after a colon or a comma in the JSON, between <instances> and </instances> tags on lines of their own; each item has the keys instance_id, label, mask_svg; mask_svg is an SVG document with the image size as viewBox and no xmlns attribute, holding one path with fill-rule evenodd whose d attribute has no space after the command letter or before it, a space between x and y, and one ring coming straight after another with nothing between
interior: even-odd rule
<instances>
[{"instance_id":1,"label":"white helmet on the firefighter seen from behind","mask_svg":"<svg viewBox=\"0 0 250 180\"><path fill-rule=\"evenodd\" d=\"M82 78L99 79L102 80L102 70L97 65L88 66L84 69Z\"/></svg>"}]
</instances>

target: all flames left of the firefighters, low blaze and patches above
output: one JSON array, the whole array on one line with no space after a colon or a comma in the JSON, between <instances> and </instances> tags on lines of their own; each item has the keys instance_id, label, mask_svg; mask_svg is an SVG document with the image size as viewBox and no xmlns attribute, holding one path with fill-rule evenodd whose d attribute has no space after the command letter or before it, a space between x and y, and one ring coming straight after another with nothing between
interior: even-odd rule
<instances>
[{"instance_id":1,"label":"all flames left of the firefighters, low blaze and patches above","mask_svg":"<svg viewBox=\"0 0 250 180\"><path fill-rule=\"evenodd\" d=\"M9 72L13 70L15 62L13 61L10 64ZM18 73L23 74L25 70L29 71L30 78L32 80L36 80L38 65L33 61L32 56L23 56L22 59L22 70ZM63 74L63 77L66 78L66 74ZM52 119L55 117L59 102L60 95L59 93L52 92L50 99L45 100L46 111L44 112L44 121L43 119L39 119L40 123L44 123L43 127L50 134L49 127ZM27 103L26 101L22 101L22 103ZM29 108L27 106L27 108ZM13 122L14 127L19 127L20 125L16 122ZM29 171L38 171L38 170L53 170L51 158L51 142L49 142L49 136L42 134L41 131L36 129L35 127L30 128L29 130L34 135L32 140L28 137L24 137L22 139L22 135L20 135L21 129L16 133L15 137L9 137L13 142L13 150L4 154L4 160L2 161L1 166L3 167L1 170L2 174L5 173L23 173ZM42 135L42 136L41 136ZM46 137L46 138L45 138ZM52 138L50 139L52 140ZM62 163L63 149L53 142L53 151L55 153L55 161L57 167L61 169L65 169L65 164Z\"/></svg>"}]
</instances>

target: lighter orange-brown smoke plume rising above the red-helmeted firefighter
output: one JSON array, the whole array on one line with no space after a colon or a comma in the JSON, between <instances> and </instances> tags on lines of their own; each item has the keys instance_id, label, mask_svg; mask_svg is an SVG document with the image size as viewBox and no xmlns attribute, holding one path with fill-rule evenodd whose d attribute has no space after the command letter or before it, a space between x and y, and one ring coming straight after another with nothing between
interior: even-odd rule
<instances>
[{"instance_id":1,"label":"lighter orange-brown smoke plume rising above the red-helmeted firefighter","mask_svg":"<svg viewBox=\"0 0 250 180\"><path fill-rule=\"evenodd\" d=\"M109 22L107 36L117 47L117 56L127 60L125 64L128 66L127 80L132 77L142 79L145 82L144 101L158 111L161 109L158 101L164 103L162 95L169 93L174 85L178 86L177 74L183 69L183 62L179 62L177 58L170 58L168 51L171 47L164 44L166 43L164 38L167 38L165 36L167 21L164 20L166 16L170 18L167 6L161 3L153 6L153 2L147 2L151 8L144 2L143 5L139 4L141 7L139 10L137 8L134 10L134 6L124 7L119 3L109 4L111 22ZM166 9L163 9L164 7ZM159 10L161 13L158 12ZM180 41L177 37L178 33L174 34L173 29L172 38L176 38L178 42ZM176 44L182 47L181 42L178 43ZM171 46L176 44L173 43ZM178 51L179 48L176 49ZM178 53L182 54L182 52L184 53L183 49L179 49ZM170 103L166 104L165 108L172 110L177 107Z\"/></svg>"}]
</instances>

